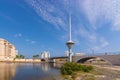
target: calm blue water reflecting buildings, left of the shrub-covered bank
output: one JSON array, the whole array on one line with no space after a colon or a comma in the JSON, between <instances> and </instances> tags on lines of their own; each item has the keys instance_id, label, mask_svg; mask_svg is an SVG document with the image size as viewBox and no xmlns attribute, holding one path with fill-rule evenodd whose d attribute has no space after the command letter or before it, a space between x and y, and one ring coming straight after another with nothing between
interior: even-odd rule
<instances>
[{"instance_id":1,"label":"calm blue water reflecting buildings, left of the shrub-covered bank","mask_svg":"<svg viewBox=\"0 0 120 80\"><path fill-rule=\"evenodd\" d=\"M60 70L49 63L0 63L0 80L60 80Z\"/></svg>"}]
</instances>

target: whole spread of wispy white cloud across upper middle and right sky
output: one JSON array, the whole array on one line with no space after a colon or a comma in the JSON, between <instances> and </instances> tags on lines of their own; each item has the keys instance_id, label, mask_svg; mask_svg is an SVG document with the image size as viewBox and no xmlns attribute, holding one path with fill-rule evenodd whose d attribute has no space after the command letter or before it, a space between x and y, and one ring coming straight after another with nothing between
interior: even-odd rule
<instances>
[{"instance_id":1,"label":"whole spread of wispy white cloud across upper middle and right sky","mask_svg":"<svg viewBox=\"0 0 120 80\"><path fill-rule=\"evenodd\" d=\"M99 27L102 27L98 24L104 24L104 21L112 24L110 26L111 30L120 30L119 0L70 0L70 2L69 0L25 1L43 20L51 23L56 29L65 31L61 35L61 39L64 41L68 39L68 13L72 11L72 37L76 45L81 43L82 38L95 50L100 50L108 46L109 42L104 35L99 35L97 32ZM76 4L80 6L78 7ZM28 42L31 41L28 40Z\"/></svg>"}]
</instances>

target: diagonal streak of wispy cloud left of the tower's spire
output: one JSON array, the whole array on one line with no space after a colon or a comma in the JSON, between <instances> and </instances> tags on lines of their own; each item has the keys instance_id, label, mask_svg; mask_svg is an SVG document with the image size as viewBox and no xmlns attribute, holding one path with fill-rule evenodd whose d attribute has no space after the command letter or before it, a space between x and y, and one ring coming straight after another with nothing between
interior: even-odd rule
<instances>
[{"instance_id":1,"label":"diagonal streak of wispy cloud left of the tower's spire","mask_svg":"<svg viewBox=\"0 0 120 80\"><path fill-rule=\"evenodd\" d=\"M58 9L56 5L46 0L26 0L26 2L45 21L54 25L57 29L66 30L65 13Z\"/></svg>"}]
</instances>

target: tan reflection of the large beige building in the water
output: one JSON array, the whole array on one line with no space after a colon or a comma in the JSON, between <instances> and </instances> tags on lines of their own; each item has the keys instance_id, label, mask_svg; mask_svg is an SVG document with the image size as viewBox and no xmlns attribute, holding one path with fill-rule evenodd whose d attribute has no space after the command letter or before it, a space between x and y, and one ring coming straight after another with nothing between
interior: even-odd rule
<instances>
[{"instance_id":1,"label":"tan reflection of the large beige building in the water","mask_svg":"<svg viewBox=\"0 0 120 80\"><path fill-rule=\"evenodd\" d=\"M0 80L11 80L15 76L15 63L0 63Z\"/></svg>"}]
</instances>

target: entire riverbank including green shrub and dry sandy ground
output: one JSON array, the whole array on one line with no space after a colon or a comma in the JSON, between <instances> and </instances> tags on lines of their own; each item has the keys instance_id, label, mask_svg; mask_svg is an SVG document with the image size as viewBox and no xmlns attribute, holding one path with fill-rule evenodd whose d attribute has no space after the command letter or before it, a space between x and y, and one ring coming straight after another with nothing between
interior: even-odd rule
<instances>
[{"instance_id":1,"label":"entire riverbank including green shrub and dry sandy ground","mask_svg":"<svg viewBox=\"0 0 120 80\"><path fill-rule=\"evenodd\" d=\"M61 67L61 74L63 80L120 80L120 70L103 66L67 62Z\"/></svg>"}]
</instances>

